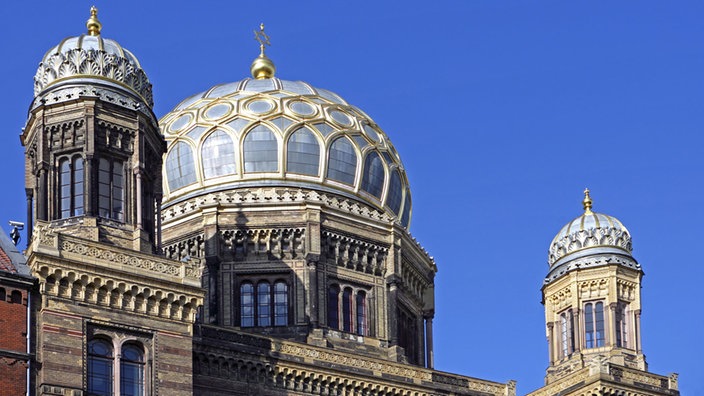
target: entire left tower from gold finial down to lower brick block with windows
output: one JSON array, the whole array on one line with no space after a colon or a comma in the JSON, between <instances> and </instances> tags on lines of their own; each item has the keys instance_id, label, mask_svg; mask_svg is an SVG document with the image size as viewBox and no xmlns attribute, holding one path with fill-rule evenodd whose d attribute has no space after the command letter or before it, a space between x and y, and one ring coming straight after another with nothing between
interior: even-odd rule
<instances>
[{"instance_id":1,"label":"entire left tower from gold finial down to lower brick block with windows","mask_svg":"<svg viewBox=\"0 0 704 396\"><path fill-rule=\"evenodd\" d=\"M97 9L86 25L44 55L21 136L39 288L29 393L191 395L203 292L196 265L154 254L165 142L151 85Z\"/></svg>"}]
</instances>

